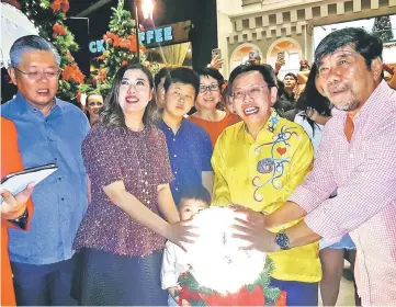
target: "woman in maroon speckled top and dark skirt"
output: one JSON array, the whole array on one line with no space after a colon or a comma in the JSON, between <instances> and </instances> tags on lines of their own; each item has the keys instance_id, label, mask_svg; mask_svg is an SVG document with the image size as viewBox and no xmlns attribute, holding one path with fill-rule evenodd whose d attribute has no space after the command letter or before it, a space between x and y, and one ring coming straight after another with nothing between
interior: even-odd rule
<instances>
[{"instance_id":1,"label":"woman in maroon speckled top and dark skirt","mask_svg":"<svg viewBox=\"0 0 396 307\"><path fill-rule=\"evenodd\" d=\"M82 145L92 197L75 240L80 270L73 295L80 305L167 305L160 287L165 240L181 246L192 236L170 192L152 86L142 65L122 67Z\"/></svg>"}]
</instances>

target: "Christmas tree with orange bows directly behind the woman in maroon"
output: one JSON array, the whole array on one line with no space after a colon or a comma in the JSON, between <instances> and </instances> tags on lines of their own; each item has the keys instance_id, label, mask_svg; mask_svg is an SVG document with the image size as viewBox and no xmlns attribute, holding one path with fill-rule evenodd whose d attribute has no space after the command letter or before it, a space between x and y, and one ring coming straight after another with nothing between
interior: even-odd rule
<instances>
[{"instance_id":1,"label":"Christmas tree with orange bows directly behind the woman in maroon","mask_svg":"<svg viewBox=\"0 0 396 307\"><path fill-rule=\"evenodd\" d=\"M132 19L131 12L124 10L124 0L120 0L117 7L112 8L112 11L109 31L103 35L108 48L97 58L99 68L94 77L97 92L104 96L109 94L118 68L131 61L137 61L137 52L140 64L150 69L152 73L156 73L160 68L157 62L147 61L144 46L140 45L139 50L137 50L135 21ZM140 31L143 31L142 27ZM92 89L86 88L87 93L90 91Z\"/></svg>"}]
</instances>

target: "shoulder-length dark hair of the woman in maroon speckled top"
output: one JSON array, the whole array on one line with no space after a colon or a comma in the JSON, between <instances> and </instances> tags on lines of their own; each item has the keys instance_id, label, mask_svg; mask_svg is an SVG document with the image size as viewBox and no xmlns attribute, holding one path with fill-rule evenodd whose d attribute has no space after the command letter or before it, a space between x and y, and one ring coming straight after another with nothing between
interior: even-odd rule
<instances>
[{"instance_id":1,"label":"shoulder-length dark hair of the woman in maroon speckled top","mask_svg":"<svg viewBox=\"0 0 396 307\"><path fill-rule=\"evenodd\" d=\"M125 71L129 69L142 70L148 79L150 89L154 90L154 79L151 72L142 64L131 62L118 69L113 79L113 84L110 90L110 94L106 96L103 111L100 115L101 122L105 126L115 126L126 128L125 115L120 106L118 95L121 81L125 75ZM159 113L156 104L156 95L152 94L152 99L148 102L145 113L143 115L143 124L148 127L156 126L159 120Z\"/></svg>"}]
</instances>

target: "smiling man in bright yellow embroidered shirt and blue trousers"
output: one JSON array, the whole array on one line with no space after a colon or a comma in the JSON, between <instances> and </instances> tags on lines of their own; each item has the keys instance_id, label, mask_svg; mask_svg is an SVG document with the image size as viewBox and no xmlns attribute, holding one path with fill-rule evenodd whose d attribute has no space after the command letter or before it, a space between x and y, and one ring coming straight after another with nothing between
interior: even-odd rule
<instances>
[{"instance_id":1,"label":"smiling man in bright yellow embroidered shirt and blue trousers","mask_svg":"<svg viewBox=\"0 0 396 307\"><path fill-rule=\"evenodd\" d=\"M278 89L270 66L239 66L231 72L229 84L235 111L244 121L226 128L216 143L213 205L234 203L270 214L310 171L313 146L299 125L281 118L272 109ZM272 230L278 232L296 223ZM287 292L287 306L317 305L321 278L318 245L269 255L275 265L272 286Z\"/></svg>"}]
</instances>

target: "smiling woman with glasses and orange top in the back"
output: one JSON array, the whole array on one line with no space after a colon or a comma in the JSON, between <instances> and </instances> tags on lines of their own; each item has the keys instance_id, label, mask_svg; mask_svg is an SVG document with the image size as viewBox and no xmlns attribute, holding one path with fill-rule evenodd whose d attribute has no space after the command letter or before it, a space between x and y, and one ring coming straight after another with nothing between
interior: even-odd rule
<instances>
[{"instance_id":1,"label":"smiling woman with glasses and orange top in the back","mask_svg":"<svg viewBox=\"0 0 396 307\"><path fill-rule=\"evenodd\" d=\"M208 67L197 69L196 72L200 76L200 92L195 101L196 112L189 116L189 120L208 133L214 146L223 130L240 122L240 118L226 111L218 110L223 99L220 88L224 78L222 73Z\"/></svg>"}]
</instances>

